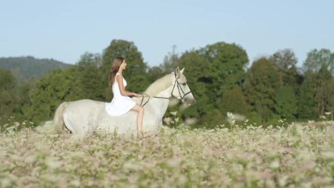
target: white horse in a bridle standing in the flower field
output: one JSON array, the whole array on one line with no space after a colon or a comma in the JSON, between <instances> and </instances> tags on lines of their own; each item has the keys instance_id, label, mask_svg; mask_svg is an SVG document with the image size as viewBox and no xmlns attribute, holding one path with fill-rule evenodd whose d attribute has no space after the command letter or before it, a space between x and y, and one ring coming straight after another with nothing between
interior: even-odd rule
<instances>
[{"instance_id":1,"label":"white horse in a bridle standing in the flower field","mask_svg":"<svg viewBox=\"0 0 334 188\"><path fill-rule=\"evenodd\" d=\"M189 105L195 103L183 71L184 68L180 71L177 67L174 72L148 86L143 97L131 98L137 104L144 106L143 131L159 130L171 96ZM88 99L60 104L53 122L56 130L62 131L66 127L73 134L79 135L93 131L117 134L137 132L137 112L130 110L120 116L109 116L105 111L104 102Z\"/></svg>"}]
</instances>

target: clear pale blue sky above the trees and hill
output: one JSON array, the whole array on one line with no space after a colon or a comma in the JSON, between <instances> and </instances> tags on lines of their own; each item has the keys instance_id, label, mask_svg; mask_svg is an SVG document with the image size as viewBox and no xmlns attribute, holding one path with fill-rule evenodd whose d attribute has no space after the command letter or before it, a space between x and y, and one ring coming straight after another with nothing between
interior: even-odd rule
<instances>
[{"instance_id":1,"label":"clear pale blue sky above the trees and hill","mask_svg":"<svg viewBox=\"0 0 334 188\"><path fill-rule=\"evenodd\" d=\"M301 65L313 48L334 51L334 0L7 0L0 2L0 57L76 63L112 39L132 41L149 66L219 41L250 63L291 48Z\"/></svg>"}]
</instances>

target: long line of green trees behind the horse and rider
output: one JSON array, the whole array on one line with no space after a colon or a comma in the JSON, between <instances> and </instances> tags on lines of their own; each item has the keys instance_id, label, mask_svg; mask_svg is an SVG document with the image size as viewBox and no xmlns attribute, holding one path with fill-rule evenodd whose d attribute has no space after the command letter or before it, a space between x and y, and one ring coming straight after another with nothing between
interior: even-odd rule
<instances>
[{"instance_id":1,"label":"long line of green trees behind the horse and rider","mask_svg":"<svg viewBox=\"0 0 334 188\"><path fill-rule=\"evenodd\" d=\"M127 62L127 89L138 93L176 66L185 67L196 104L186 110L180 104L170 106L165 116L178 111L181 123L196 118L192 127L226 125L227 112L243 114L256 125L333 117L334 53L328 49L311 50L302 67L297 67L290 49L261 57L248 67L245 49L217 42L182 54L172 50L163 63L149 67L133 42L112 40L102 54L86 52L74 66L54 69L34 82L19 82L10 71L0 70L1 125L10 116L39 125L50 120L64 101L111 101L108 74L119 55Z\"/></svg>"}]
</instances>

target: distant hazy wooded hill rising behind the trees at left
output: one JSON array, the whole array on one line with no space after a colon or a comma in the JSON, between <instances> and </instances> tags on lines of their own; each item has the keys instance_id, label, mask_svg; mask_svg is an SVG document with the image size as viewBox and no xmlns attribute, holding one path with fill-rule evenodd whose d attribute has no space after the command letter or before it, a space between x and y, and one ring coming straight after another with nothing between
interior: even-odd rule
<instances>
[{"instance_id":1,"label":"distant hazy wooded hill rising behind the trees at left","mask_svg":"<svg viewBox=\"0 0 334 188\"><path fill-rule=\"evenodd\" d=\"M36 59L32 56L0 58L0 68L11 70L15 76L39 78L55 68L67 68L66 64L53 59Z\"/></svg>"}]
</instances>

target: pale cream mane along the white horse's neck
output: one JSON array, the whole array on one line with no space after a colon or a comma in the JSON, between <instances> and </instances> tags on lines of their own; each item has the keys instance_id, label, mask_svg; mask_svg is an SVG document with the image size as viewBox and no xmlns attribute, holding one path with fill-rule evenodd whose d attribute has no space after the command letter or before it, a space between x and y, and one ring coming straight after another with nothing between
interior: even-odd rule
<instances>
[{"instance_id":1,"label":"pale cream mane along the white horse's neck","mask_svg":"<svg viewBox=\"0 0 334 188\"><path fill-rule=\"evenodd\" d=\"M171 77L172 74L167 74L162 78L159 78L154 83L150 84L144 93L153 97L158 95L161 91L167 89L168 86L171 84Z\"/></svg>"}]
</instances>

